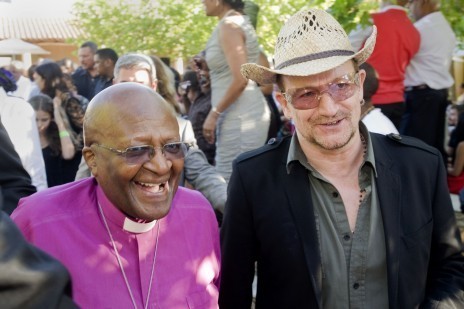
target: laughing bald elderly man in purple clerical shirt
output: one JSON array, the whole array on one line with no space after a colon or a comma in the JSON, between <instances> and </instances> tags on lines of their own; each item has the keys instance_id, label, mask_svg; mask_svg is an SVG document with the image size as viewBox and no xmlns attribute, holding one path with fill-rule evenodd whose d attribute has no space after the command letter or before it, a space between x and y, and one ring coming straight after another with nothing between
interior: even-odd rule
<instances>
[{"instance_id":1,"label":"laughing bald elderly man in purple clerical shirt","mask_svg":"<svg viewBox=\"0 0 464 309\"><path fill-rule=\"evenodd\" d=\"M188 145L153 90L111 86L89 105L83 156L94 177L22 199L12 218L70 271L82 308L217 308L217 222L178 187Z\"/></svg>"}]
</instances>

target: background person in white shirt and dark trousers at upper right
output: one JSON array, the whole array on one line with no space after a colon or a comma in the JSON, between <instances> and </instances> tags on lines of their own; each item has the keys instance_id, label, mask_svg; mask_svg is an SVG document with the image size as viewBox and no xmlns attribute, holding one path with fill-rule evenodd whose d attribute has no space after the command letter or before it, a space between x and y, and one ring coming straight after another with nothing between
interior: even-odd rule
<instances>
[{"instance_id":1,"label":"background person in white shirt and dark trousers at upper right","mask_svg":"<svg viewBox=\"0 0 464 309\"><path fill-rule=\"evenodd\" d=\"M406 69L406 110L400 132L417 137L445 157L445 118L456 37L440 12L440 0L410 1L409 10L420 33L419 52Z\"/></svg>"}]
</instances>

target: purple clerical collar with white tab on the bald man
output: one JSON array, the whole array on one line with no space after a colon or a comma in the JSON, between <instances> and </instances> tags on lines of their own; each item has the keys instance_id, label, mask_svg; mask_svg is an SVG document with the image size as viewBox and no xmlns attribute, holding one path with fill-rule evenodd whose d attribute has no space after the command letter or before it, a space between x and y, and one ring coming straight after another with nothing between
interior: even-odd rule
<instances>
[{"instance_id":1,"label":"purple clerical collar with white tab on the bald man","mask_svg":"<svg viewBox=\"0 0 464 309\"><path fill-rule=\"evenodd\" d=\"M101 206L106 220L111 221L126 232L140 234L148 232L155 227L156 220L151 222L138 222L128 218L110 202L100 186L97 186L97 203Z\"/></svg>"}]
</instances>

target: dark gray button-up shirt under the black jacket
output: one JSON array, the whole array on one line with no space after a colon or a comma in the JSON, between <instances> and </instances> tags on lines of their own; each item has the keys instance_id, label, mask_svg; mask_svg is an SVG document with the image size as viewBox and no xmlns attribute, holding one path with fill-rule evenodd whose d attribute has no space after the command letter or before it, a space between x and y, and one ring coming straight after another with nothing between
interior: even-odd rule
<instances>
[{"instance_id":1,"label":"dark gray button-up shirt under the black jacket","mask_svg":"<svg viewBox=\"0 0 464 309\"><path fill-rule=\"evenodd\" d=\"M361 126L367 153L359 171L365 190L354 232L338 190L309 163L296 134L287 165L299 161L308 170L322 269L324 308L388 308L385 236L375 187L375 159L369 134Z\"/></svg>"}]
</instances>

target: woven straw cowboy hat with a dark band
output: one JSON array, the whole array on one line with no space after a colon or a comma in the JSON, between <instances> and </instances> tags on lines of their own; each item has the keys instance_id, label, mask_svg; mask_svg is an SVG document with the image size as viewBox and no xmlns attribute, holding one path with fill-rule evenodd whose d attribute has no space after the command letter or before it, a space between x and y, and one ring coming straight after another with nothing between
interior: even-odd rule
<instances>
[{"instance_id":1,"label":"woven straw cowboy hat with a dark band","mask_svg":"<svg viewBox=\"0 0 464 309\"><path fill-rule=\"evenodd\" d=\"M375 46L377 28L355 53L342 26L327 12L304 9L290 17L280 30L274 53L275 69L255 63L241 67L245 78L260 85L272 84L276 75L308 76L331 70L350 59L361 64Z\"/></svg>"}]
</instances>

